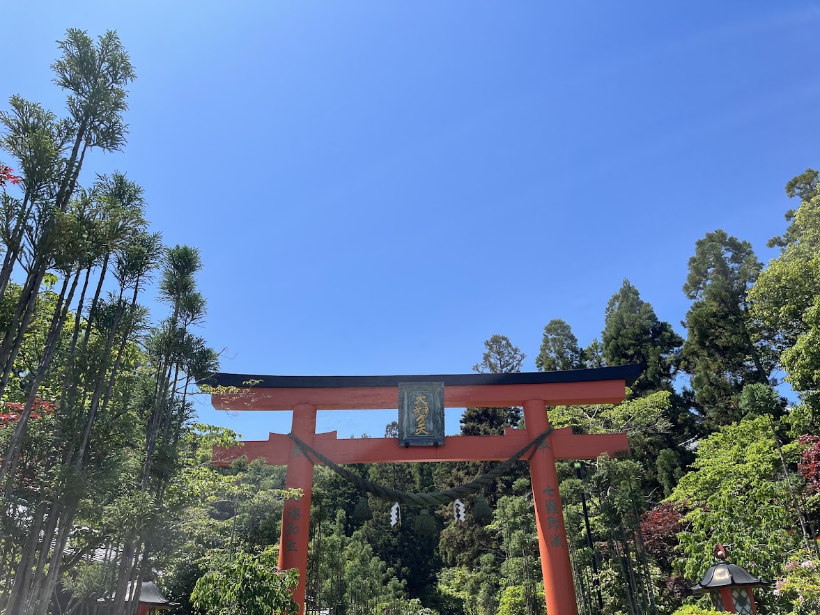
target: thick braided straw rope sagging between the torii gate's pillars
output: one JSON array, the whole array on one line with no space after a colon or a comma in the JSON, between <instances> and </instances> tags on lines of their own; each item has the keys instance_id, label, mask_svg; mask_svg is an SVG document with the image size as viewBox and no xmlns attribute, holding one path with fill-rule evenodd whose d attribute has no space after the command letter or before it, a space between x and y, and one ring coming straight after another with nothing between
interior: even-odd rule
<instances>
[{"instance_id":1,"label":"thick braided straw rope sagging between the torii gate's pillars","mask_svg":"<svg viewBox=\"0 0 820 615\"><path fill-rule=\"evenodd\" d=\"M311 463L315 465L316 462L313 458L318 459L331 470L335 471L336 474L352 482L353 485L356 485L360 491L367 491L367 493L376 495L378 498L386 499L389 502L403 503L408 506L435 506L436 504L447 504L454 502L456 499L461 498L464 495L478 493L481 490L481 487L484 485L489 485L504 472L508 471L512 467L513 463L521 459L528 450L540 445L552 432L553 428L550 427L548 430L544 431L544 433L536 437L535 440L532 440L530 444L527 444L523 449L512 455L512 457L507 461L499 463L499 465L494 467L492 470L476 477L473 481L464 483L463 485L458 485L458 487L453 487L453 489L438 491L432 494L414 494L408 493L407 491L397 491L394 489L388 489L382 485L376 485L370 481L366 481L361 476L353 474L352 471L345 470L344 467L341 467L329 458L326 458L316 449L312 449L310 445L302 440L299 440L297 436L293 434L288 435Z\"/></svg>"}]
</instances>

